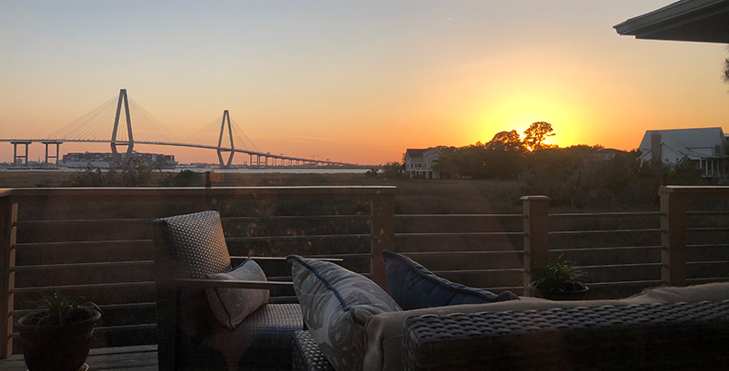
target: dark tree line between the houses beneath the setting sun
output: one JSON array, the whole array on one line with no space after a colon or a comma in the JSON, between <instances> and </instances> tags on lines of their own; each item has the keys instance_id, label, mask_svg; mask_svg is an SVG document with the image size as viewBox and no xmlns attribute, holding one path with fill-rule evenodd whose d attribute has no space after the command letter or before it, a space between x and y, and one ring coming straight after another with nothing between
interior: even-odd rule
<instances>
[{"instance_id":1,"label":"dark tree line between the houses beneath the setting sun","mask_svg":"<svg viewBox=\"0 0 729 371\"><path fill-rule=\"evenodd\" d=\"M630 206L657 202L663 184L703 185L693 161L671 164L638 161L641 151L601 156L601 145L560 148L544 143L554 135L548 122L534 122L524 135L497 132L489 142L464 147L438 146L443 153L434 170L446 177L518 181L522 194L544 194L554 205ZM391 162L384 174L396 176L404 164ZM715 181L714 181L715 182Z\"/></svg>"}]
</instances>

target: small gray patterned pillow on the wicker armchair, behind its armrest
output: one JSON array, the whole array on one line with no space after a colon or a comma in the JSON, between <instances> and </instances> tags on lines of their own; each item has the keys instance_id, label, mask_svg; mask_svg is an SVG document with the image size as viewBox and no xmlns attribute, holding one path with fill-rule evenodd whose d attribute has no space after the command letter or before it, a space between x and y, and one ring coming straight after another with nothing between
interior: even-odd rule
<instances>
[{"instance_id":1,"label":"small gray patterned pillow on the wicker armchair, behind its armrest","mask_svg":"<svg viewBox=\"0 0 729 371\"><path fill-rule=\"evenodd\" d=\"M225 272L208 274L209 279L265 281L264 270L255 261L246 259L235 269ZM268 290L248 288L205 288L210 308L215 318L223 325L235 328L255 309L268 301Z\"/></svg>"}]
</instances>

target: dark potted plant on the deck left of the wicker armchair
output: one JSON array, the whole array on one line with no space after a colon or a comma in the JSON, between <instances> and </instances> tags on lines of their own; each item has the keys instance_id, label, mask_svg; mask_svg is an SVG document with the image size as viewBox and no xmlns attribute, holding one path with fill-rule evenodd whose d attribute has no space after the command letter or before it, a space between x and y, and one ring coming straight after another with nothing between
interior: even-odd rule
<instances>
[{"instance_id":1,"label":"dark potted plant on the deck left of the wicker armchair","mask_svg":"<svg viewBox=\"0 0 729 371\"><path fill-rule=\"evenodd\" d=\"M85 366L101 311L92 302L60 293L44 295L38 308L18 318L19 345L29 371L77 371Z\"/></svg>"}]
</instances>

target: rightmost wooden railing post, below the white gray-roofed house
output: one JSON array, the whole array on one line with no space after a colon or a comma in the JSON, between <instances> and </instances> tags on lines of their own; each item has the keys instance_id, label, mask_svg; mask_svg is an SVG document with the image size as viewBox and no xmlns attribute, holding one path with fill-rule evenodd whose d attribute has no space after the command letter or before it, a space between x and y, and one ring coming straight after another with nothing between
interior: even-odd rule
<instances>
[{"instance_id":1,"label":"rightmost wooden railing post, below the white gray-roofed house","mask_svg":"<svg viewBox=\"0 0 729 371\"><path fill-rule=\"evenodd\" d=\"M686 199L661 187L661 279L686 286Z\"/></svg>"}]
</instances>

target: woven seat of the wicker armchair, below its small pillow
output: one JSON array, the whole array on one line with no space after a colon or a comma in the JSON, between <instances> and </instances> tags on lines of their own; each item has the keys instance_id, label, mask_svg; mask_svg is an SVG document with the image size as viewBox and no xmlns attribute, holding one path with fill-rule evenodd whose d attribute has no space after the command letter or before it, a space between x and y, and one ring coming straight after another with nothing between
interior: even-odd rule
<instances>
[{"instance_id":1,"label":"woven seat of the wicker armchair, below its small pillow","mask_svg":"<svg viewBox=\"0 0 729 371\"><path fill-rule=\"evenodd\" d=\"M225 359L228 369L282 369L292 365L293 336L304 328L298 304L264 304L231 330L216 326L199 352Z\"/></svg>"}]
</instances>

